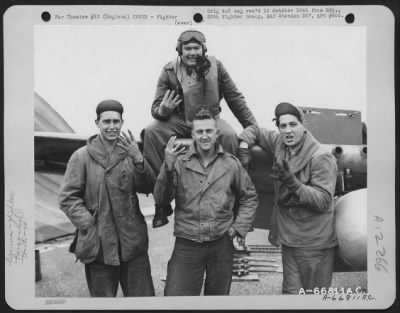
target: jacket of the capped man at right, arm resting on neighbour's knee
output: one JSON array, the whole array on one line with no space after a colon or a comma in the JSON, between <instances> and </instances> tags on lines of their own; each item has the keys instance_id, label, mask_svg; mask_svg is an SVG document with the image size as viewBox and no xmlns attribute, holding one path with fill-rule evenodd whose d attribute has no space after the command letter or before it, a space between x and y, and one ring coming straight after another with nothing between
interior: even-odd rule
<instances>
[{"instance_id":1,"label":"jacket of the capped man at right, arm resting on neighbour's knee","mask_svg":"<svg viewBox=\"0 0 400 313\"><path fill-rule=\"evenodd\" d=\"M258 144L274 153L274 162L285 156L286 146L280 134L260 127L249 127L239 136L249 144ZM337 245L334 229L333 195L337 165L332 153L306 132L299 152L289 160L298 184L289 190L274 180L275 207L272 231L278 244L303 248L329 248Z\"/></svg>"}]
</instances>

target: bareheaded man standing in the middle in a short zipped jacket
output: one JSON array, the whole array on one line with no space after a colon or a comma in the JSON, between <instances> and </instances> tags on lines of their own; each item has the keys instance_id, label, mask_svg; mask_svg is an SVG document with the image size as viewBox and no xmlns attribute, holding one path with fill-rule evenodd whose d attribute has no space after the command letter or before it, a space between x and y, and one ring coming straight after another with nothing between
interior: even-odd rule
<instances>
[{"instance_id":1,"label":"bareheaded man standing in the middle in a short zipped jacket","mask_svg":"<svg viewBox=\"0 0 400 313\"><path fill-rule=\"evenodd\" d=\"M194 116L193 143L182 155L172 136L154 187L157 205L175 199L174 250L168 262L165 296L229 295L233 242L249 231L257 193L239 160L217 143L212 113Z\"/></svg>"}]
</instances>

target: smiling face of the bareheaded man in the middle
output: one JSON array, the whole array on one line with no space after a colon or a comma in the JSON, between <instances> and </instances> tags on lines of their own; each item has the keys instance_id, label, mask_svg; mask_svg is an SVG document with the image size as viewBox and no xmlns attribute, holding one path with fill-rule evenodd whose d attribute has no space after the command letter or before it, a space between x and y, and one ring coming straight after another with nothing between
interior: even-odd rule
<instances>
[{"instance_id":1,"label":"smiling face of the bareheaded man in the middle","mask_svg":"<svg viewBox=\"0 0 400 313\"><path fill-rule=\"evenodd\" d=\"M194 120L192 138L196 147L202 151L209 151L215 147L219 135L217 123L213 119Z\"/></svg>"}]
</instances>

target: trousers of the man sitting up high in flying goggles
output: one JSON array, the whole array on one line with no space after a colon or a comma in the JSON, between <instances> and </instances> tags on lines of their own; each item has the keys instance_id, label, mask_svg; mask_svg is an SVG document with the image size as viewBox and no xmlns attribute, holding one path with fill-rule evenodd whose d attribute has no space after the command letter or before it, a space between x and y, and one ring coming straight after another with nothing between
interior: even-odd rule
<instances>
[{"instance_id":1,"label":"trousers of the man sitting up high in flying goggles","mask_svg":"<svg viewBox=\"0 0 400 313\"><path fill-rule=\"evenodd\" d=\"M235 130L226 121L217 119L220 131L219 143L224 151L236 155L239 143ZM164 160L164 149L171 136L191 138L191 127L181 115L172 114L167 121L154 120L142 132L143 157L149 163L155 177Z\"/></svg>"}]
</instances>

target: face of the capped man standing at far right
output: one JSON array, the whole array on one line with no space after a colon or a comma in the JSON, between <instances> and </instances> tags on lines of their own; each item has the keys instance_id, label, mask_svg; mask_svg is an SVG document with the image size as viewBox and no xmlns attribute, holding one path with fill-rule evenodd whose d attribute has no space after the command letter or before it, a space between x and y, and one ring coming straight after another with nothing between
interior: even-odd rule
<instances>
[{"instance_id":1,"label":"face of the capped man standing at far right","mask_svg":"<svg viewBox=\"0 0 400 313\"><path fill-rule=\"evenodd\" d=\"M279 132L283 143L288 147L296 146L303 138L305 128L296 116L284 114L279 117Z\"/></svg>"}]
</instances>

